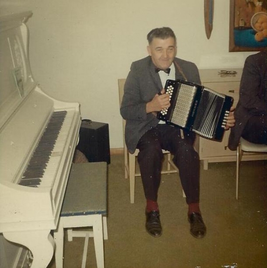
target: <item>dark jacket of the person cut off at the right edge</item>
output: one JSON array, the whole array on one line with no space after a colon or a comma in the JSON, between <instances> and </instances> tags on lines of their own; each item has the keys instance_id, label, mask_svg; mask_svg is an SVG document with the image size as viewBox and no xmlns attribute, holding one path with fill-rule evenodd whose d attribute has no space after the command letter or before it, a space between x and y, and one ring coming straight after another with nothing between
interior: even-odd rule
<instances>
[{"instance_id":1,"label":"dark jacket of the person cut off at the right edge","mask_svg":"<svg viewBox=\"0 0 267 268\"><path fill-rule=\"evenodd\" d=\"M253 115L267 115L267 50L247 57L228 147L236 150L241 134Z\"/></svg>"}]
</instances>

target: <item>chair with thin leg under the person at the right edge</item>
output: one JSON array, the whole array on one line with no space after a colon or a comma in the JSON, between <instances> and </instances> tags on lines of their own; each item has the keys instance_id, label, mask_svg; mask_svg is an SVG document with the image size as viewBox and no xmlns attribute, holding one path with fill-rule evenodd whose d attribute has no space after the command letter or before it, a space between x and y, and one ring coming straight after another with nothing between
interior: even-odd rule
<instances>
[{"instance_id":1,"label":"chair with thin leg under the person at the right edge","mask_svg":"<svg viewBox=\"0 0 267 268\"><path fill-rule=\"evenodd\" d=\"M236 191L235 198L238 199L238 184L239 184L239 165L243 152L258 152L258 153L267 153L266 144L255 144L247 141L244 138L240 138L239 145L236 150Z\"/></svg>"}]
</instances>

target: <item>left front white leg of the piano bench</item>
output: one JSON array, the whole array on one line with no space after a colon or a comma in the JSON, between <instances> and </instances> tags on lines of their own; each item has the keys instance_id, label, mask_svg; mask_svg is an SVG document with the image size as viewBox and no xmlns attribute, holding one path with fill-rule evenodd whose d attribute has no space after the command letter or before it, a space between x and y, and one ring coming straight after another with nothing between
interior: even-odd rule
<instances>
[{"instance_id":1,"label":"left front white leg of the piano bench","mask_svg":"<svg viewBox=\"0 0 267 268\"><path fill-rule=\"evenodd\" d=\"M59 218L57 229L54 231L55 242L55 267L63 268L63 252L64 252L64 229L63 220Z\"/></svg>"}]
</instances>

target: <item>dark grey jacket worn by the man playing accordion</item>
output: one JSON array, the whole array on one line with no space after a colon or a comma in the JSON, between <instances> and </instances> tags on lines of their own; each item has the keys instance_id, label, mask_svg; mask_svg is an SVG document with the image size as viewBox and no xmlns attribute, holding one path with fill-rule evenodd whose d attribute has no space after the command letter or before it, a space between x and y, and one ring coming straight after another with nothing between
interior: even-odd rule
<instances>
[{"instance_id":1,"label":"dark grey jacket worn by the man playing accordion","mask_svg":"<svg viewBox=\"0 0 267 268\"><path fill-rule=\"evenodd\" d=\"M194 63L174 59L188 81L200 84L200 76ZM175 79L185 80L175 65ZM150 56L133 62L124 85L120 114L126 120L125 142L130 153L134 153L139 139L159 123L152 114L146 113L146 103L162 89L160 75Z\"/></svg>"}]
</instances>

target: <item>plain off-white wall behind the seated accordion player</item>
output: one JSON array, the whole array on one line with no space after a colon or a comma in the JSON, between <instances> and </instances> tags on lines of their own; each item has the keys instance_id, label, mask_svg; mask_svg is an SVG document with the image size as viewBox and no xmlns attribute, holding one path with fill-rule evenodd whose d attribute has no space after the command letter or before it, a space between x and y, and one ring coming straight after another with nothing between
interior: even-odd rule
<instances>
[{"instance_id":1,"label":"plain off-white wall behind the seated accordion player","mask_svg":"<svg viewBox=\"0 0 267 268\"><path fill-rule=\"evenodd\" d=\"M27 25L35 80L54 98L79 102L82 118L108 123L110 148L121 148L117 79L147 56L151 29L171 27L177 56L199 68L243 67L253 54L228 52L229 0L214 2L209 40L203 0L0 0L0 14L33 11Z\"/></svg>"}]
</instances>

